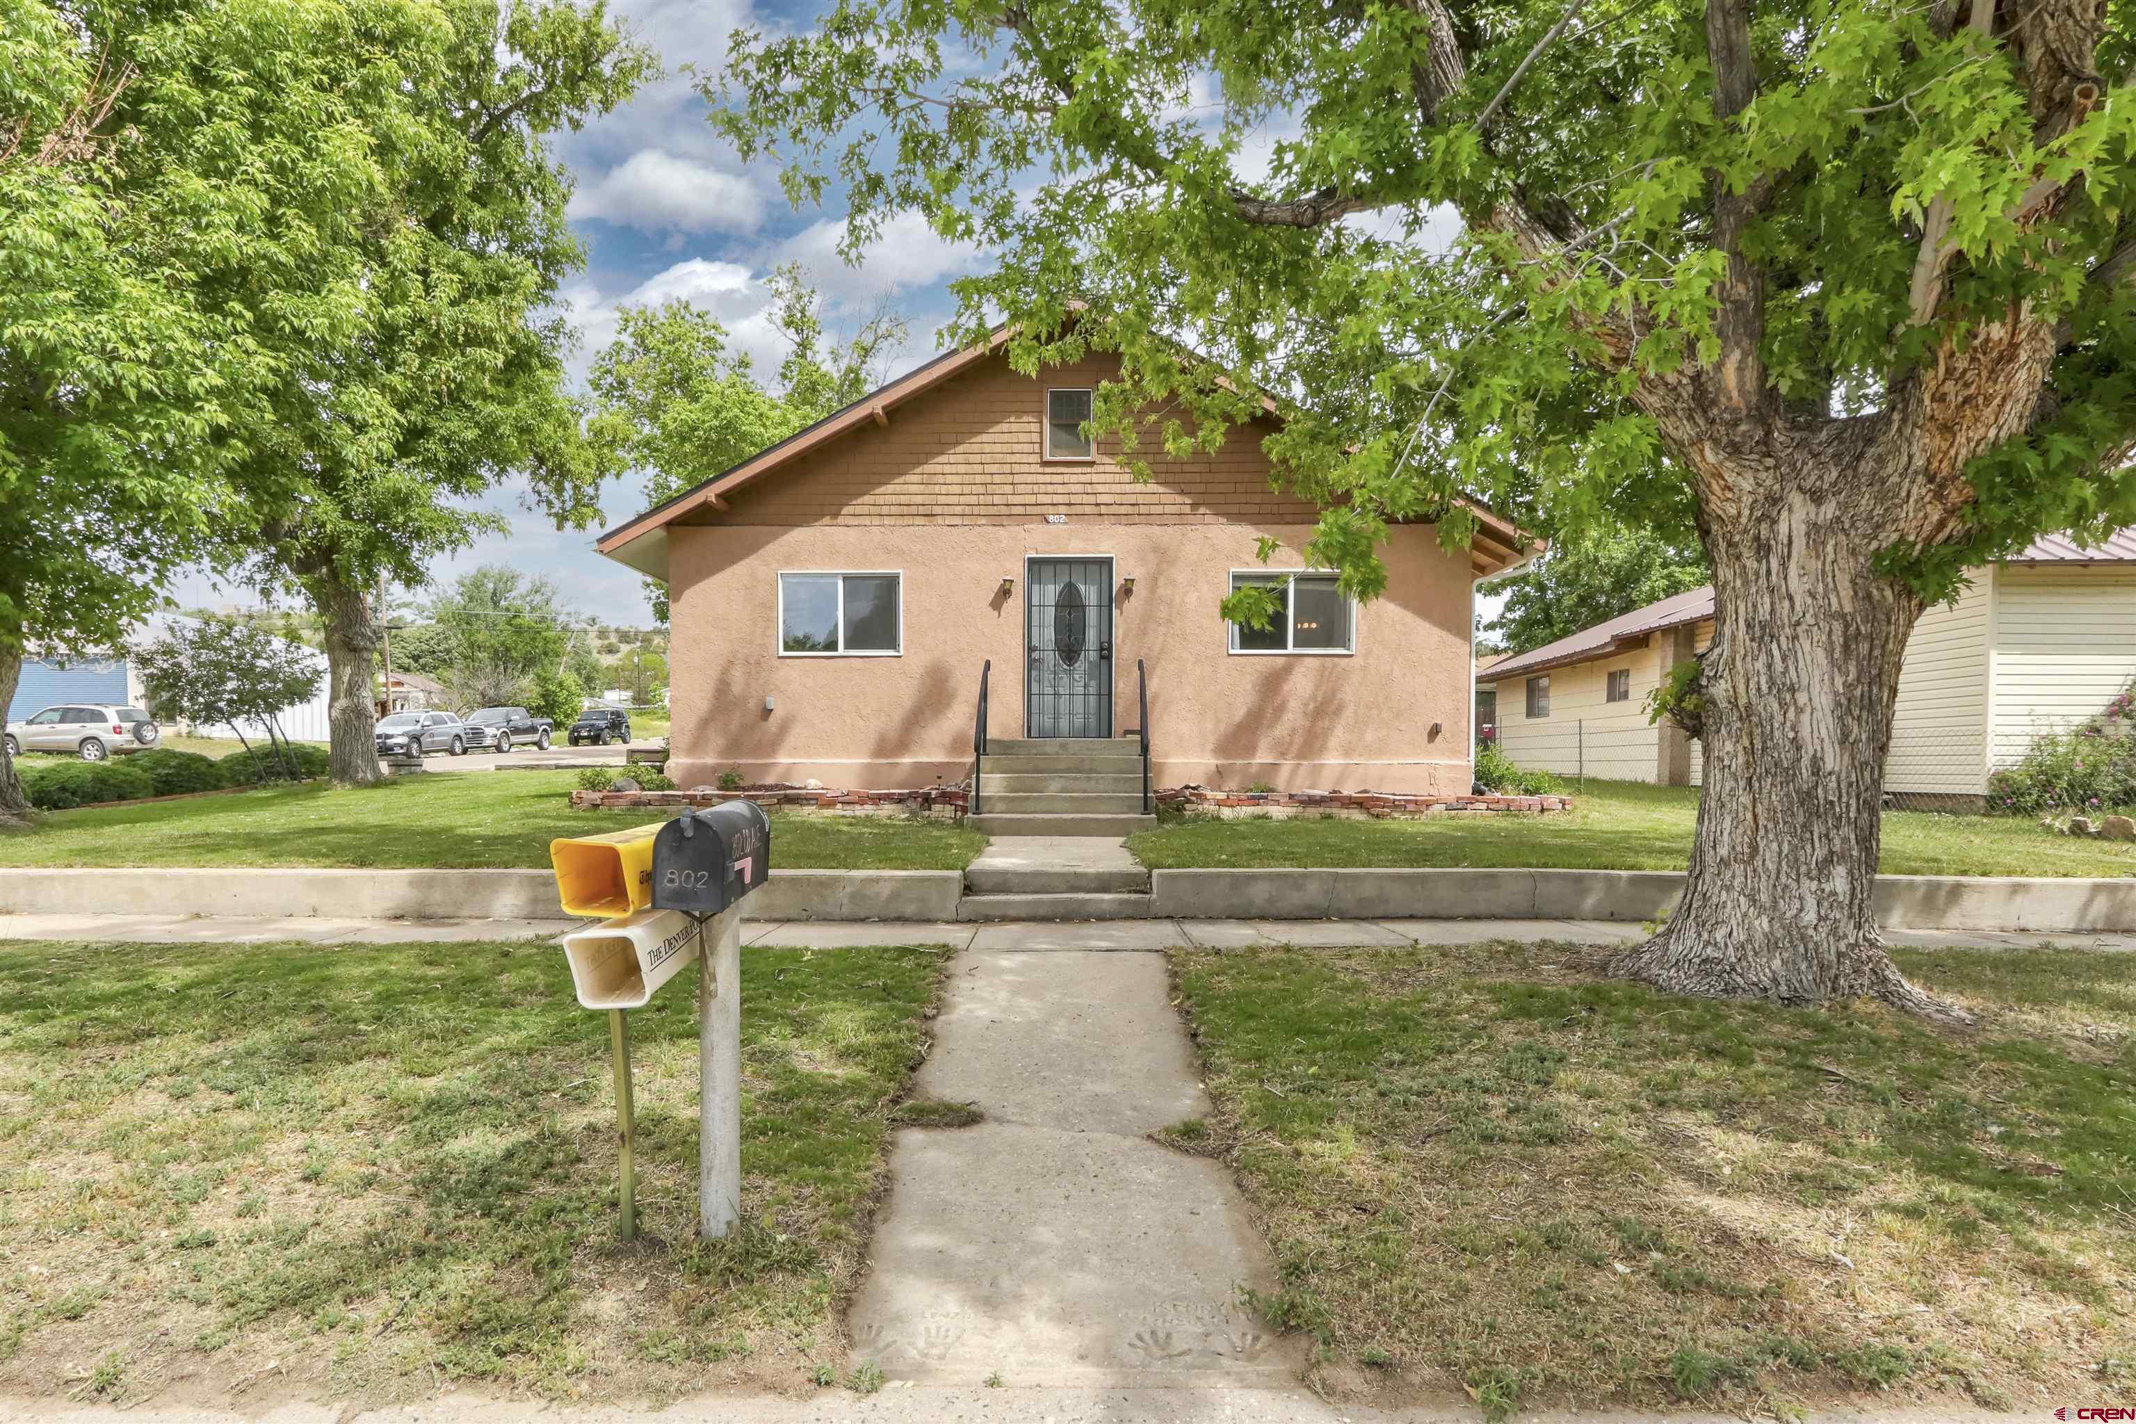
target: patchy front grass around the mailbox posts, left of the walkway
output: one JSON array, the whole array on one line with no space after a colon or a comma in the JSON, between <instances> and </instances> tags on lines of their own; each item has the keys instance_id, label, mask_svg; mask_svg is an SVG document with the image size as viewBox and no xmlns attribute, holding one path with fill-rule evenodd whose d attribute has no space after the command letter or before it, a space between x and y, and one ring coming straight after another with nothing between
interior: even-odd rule
<instances>
[{"instance_id":1,"label":"patchy front grass around the mailbox posts, left of the walkway","mask_svg":"<svg viewBox=\"0 0 2136 1424\"><path fill-rule=\"evenodd\" d=\"M799 1390L886 1185L942 950L750 950L741 1230L696 1243L690 974L607 1014L543 942L0 948L0 1392L376 1403Z\"/></svg>"}]
</instances>

